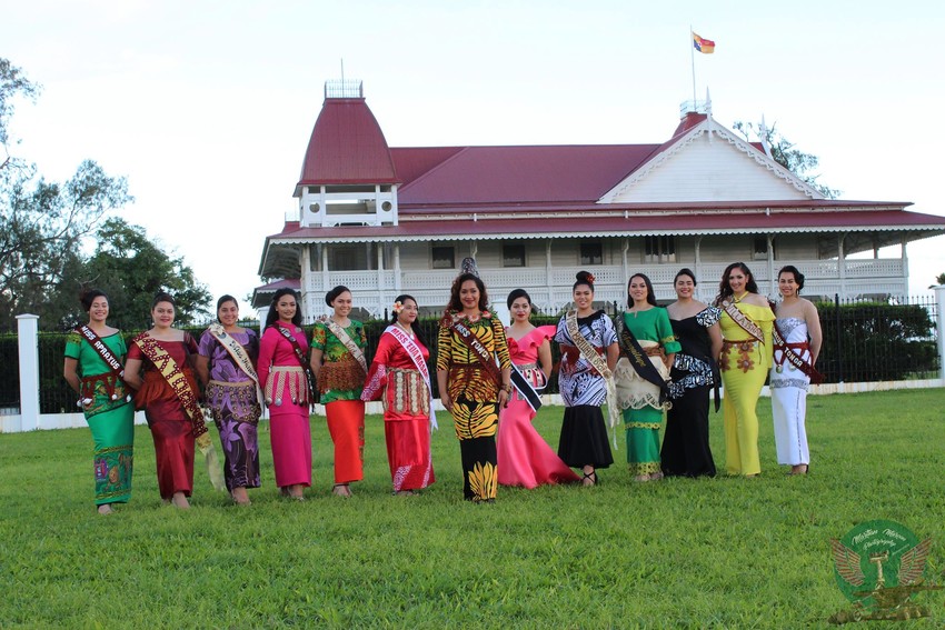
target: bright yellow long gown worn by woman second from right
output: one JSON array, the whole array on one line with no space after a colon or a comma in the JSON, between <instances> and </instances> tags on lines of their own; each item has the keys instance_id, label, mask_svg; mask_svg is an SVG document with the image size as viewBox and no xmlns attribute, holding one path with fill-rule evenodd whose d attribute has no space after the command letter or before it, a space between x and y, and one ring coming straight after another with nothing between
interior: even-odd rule
<instances>
[{"instance_id":1,"label":"bright yellow long gown worn by woman second from right","mask_svg":"<svg viewBox=\"0 0 945 630\"><path fill-rule=\"evenodd\" d=\"M723 310L722 382L725 387L725 468L729 474L758 474L758 416L755 407L772 366L772 324L775 314L768 307L736 302L735 308L762 329L764 343L752 338Z\"/></svg>"}]
</instances>

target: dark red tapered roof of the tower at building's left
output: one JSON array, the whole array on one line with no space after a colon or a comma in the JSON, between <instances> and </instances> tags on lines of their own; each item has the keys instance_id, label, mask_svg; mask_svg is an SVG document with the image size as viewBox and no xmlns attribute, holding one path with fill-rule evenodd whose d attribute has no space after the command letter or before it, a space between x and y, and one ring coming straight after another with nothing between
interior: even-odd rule
<instances>
[{"instance_id":1,"label":"dark red tapered roof of the tower at building's left","mask_svg":"<svg viewBox=\"0 0 945 630\"><path fill-rule=\"evenodd\" d=\"M298 186L397 181L387 140L365 99L325 99Z\"/></svg>"}]
</instances>

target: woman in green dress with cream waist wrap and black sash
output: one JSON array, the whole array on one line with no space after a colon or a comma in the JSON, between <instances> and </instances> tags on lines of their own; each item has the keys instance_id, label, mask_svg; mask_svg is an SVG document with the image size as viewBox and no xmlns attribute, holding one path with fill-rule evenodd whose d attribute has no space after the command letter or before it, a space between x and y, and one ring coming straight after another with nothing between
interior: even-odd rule
<instances>
[{"instance_id":1,"label":"woman in green dress with cream waist wrap and black sash","mask_svg":"<svg viewBox=\"0 0 945 630\"><path fill-rule=\"evenodd\" d=\"M656 306L653 283L643 273L630 277L627 307L618 333L621 357L615 371L617 401L624 410L630 474L637 481L654 481L663 478L659 427L669 408L669 368L682 346L673 334L666 309Z\"/></svg>"}]
</instances>

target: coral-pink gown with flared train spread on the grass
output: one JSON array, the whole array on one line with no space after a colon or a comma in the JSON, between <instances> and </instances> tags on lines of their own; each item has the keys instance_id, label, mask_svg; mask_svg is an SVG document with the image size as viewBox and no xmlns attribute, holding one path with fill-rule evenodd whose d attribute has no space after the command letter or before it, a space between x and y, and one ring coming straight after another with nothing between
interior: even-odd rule
<instances>
[{"instance_id":1,"label":"coral-pink gown with flared train spread on the grass","mask_svg":"<svg viewBox=\"0 0 945 630\"><path fill-rule=\"evenodd\" d=\"M506 329L508 333L508 329ZM555 334L554 326L538 327L519 340L508 338L511 362L524 373L536 390L545 387L545 374L537 366L538 348ZM537 488L543 483L571 483L579 477L555 454L531 420L535 411L519 393L513 390L508 407L499 413L497 448L498 477L503 486Z\"/></svg>"}]
</instances>

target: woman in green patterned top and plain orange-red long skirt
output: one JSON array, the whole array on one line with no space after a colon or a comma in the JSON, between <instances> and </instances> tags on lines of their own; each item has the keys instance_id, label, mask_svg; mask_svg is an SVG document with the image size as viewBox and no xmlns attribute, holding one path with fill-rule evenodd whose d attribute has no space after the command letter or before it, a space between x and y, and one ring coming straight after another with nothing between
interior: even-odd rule
<instances>
[{"instance_id":1,"label":"woman in green patterned top and plain orange-red long skirt","mask_svg":"<svg viewBox=\"0 0 945 630\"><path fill-rule=\"evenodd\" d=\"M335 287L325 296L334 314L311 331L311 371L325 406L328 432L335 443L335 487L338 497L351 496L351 483L364 479L365 468L365 327L349 319L351 291ZM340 336L340 337L339 337ZM354 350L351 348L352 347Z\"/></svg>"}]
</instances>

